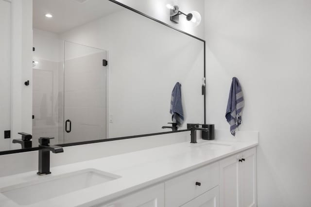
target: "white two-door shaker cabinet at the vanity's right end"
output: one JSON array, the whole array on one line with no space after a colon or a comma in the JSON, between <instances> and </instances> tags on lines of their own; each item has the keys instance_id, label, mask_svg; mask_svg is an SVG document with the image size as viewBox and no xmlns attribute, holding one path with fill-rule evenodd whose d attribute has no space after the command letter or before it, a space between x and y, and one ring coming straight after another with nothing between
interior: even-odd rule
<instances>
[{"instance_id":1,"label":"white two-door shaker cabinet at the vanity's right end","mask_svg":"<svg viewBox=\"0 0 311 207\"><path fill-rule=\"evenodd\" d=\"M255 207L256 148L220 160L220 207Z\"/></svg>"}]
</instances>

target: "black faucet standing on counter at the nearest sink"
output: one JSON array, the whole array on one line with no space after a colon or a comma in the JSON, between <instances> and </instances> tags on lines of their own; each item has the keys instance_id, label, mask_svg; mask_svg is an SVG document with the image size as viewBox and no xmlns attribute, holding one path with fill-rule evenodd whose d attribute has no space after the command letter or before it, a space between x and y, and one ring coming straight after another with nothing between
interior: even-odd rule
<instances>
[{"instance_id":1,"label":"black faucet standing on counter at the nearest sink","mask_svg":"<svg viewBox=\"0 0 311 207\"><path fill-rule=\"evenodd\" d=\"M39 171L38 175L48 175L50 172L50 151L52 153L64 152L63 147L50 145L50 140L54 137L39 138Z\"/></svg>"}]
</instances>

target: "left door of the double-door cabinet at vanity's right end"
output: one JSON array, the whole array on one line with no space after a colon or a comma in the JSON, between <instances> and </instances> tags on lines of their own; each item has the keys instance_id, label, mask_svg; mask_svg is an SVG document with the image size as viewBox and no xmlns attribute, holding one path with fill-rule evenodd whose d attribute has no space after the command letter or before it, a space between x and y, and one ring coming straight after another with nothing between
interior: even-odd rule
<instances>
[{"instance_id":1,"label":"left door of the double-door cabinet at vanity's right end","mask_svg":"<svg viewBox=\"0 0 311 207\"><path fill-rule=\"evenodd\" d=\"M220 161L220 207L239 207L239 156Z\"/></svg>"}]
</instances>

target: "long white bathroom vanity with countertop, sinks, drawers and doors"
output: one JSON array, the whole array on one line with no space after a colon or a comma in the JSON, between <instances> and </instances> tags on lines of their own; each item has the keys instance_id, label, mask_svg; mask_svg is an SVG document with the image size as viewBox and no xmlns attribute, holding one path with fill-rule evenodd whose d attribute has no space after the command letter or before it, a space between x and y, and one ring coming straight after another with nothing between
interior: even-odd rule
<instances>
[{"instance_id":1,"label":"long white bathroom vanity with countertop, sinks, drawers and doors","mask_svg":"<svg viewBox=\"0 0 311 207\"><path fill-rule=\"evenodd\" d=\"M0 206L255 207L257 144L198 140L0 177Z\"/></svg>"}]
</instances>

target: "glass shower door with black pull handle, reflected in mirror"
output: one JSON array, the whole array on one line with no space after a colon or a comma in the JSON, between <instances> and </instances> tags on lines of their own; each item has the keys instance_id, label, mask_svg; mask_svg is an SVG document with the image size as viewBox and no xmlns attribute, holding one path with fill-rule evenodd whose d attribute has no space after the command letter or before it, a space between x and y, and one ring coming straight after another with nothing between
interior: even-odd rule
<instances>
[{"instance_id":1,"label":"glass shower door with black pull handle, reflected in mirror","mask_svg":"<svg viewBox=\"0 0 311 207\"><path fill-rule=\"evenodd\" d=\"M65 41L64 143L107 138L107 52Z\"/></svg>"}]
</instances>

